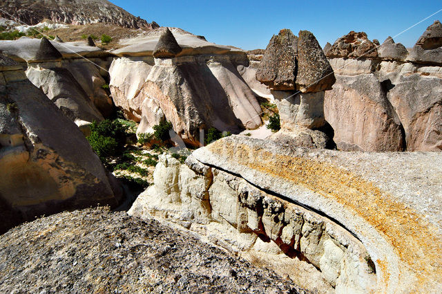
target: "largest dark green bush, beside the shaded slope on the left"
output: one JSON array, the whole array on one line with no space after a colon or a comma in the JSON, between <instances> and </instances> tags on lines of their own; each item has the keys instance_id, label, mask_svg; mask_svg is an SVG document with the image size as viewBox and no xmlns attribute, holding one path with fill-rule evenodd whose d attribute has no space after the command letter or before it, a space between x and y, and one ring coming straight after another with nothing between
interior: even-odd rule
<instances>
[{"instance_id":1,"label":"largest dark green bush, beside the shaded slope on the left","mask_svg":"<svg viewBox=\"0 0 442 294\"><path fill-rule=\"evenodd\" d=\"M107 163L108 157L122 154L127 129L118 120L102 120L90 125L88 141L103 163Z\"/></svg>"}]
</instances>

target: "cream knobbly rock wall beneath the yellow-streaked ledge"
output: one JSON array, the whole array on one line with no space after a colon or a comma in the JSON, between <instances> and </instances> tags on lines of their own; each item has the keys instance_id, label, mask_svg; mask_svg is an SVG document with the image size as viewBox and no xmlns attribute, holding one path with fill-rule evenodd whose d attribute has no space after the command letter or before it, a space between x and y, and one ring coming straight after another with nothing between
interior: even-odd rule
<instances>
[{"instance_id":1,"label":"cream knobbly rock wall beneath the yellow-streaked ledge","mask_svg":"<svg viewBox=\"0 0 442 294\"><path fill-rule=\"evenodd\" d=\"M360 241L329 219L267 194L240 176L194 156L181 165L167 155L160 156L154 182L129 214L178 223L313 292L335 293L336 288L336 293L364 293L374 284L376 275L370 273Z\"/></svg>"}]
</instances>

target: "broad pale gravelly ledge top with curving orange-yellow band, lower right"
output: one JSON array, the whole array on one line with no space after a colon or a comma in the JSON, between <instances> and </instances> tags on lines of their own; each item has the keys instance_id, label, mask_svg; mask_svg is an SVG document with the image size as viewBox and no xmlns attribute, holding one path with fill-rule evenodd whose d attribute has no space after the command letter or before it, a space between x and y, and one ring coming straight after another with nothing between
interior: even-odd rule
<instances>
[{"instance_id":1,"label":"broad pale gravelly ledge top with curving orange-yellow band, lower right","mask_svg":"<svg viewBox=\"0 0 442 294\"><path fill-rule=\"evenodd\" d=\"M319 151L229 136L195 150L192 156L318 210L353 232L376 266L376 291L441 291L441 153ZM334 250L314 236L311 245ZM302 238L300 242L302 250ZM316 252L306 246L307 254ZM416 254L415 248L425 254ZM314 254L311 258L318 261ZM333 260L327 264L336 268ZM351 268L344 270L352 275L346 282L361 273ZM326 271L327 278L332 278L333 272ZM338 286L343 281L336 279L336 291L343 290Z\"/></svg>"}]
</instances>

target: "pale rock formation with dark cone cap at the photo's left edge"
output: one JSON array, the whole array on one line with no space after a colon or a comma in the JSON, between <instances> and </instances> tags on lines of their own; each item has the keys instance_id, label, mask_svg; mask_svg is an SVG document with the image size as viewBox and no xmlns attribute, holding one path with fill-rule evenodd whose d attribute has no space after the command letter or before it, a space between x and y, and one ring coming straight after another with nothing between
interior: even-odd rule
<instances>
[{"instance_id":1,"label":"pale rock formation with dark cone cap at the photo's left edge","mask_svg":"<svg viewBox=\"0 0 442 294\"><path fill-rule=\"evenodd\" d=\"M108 53L82 42L59 43L22 37L0 42L0 51L26 66L32 84L42 89L68 118L82 129L113 111L102 88ZM87 57L89 60L83 59ZM103 73L104 71L104 73Z\"/></svg>"}]
</instances>

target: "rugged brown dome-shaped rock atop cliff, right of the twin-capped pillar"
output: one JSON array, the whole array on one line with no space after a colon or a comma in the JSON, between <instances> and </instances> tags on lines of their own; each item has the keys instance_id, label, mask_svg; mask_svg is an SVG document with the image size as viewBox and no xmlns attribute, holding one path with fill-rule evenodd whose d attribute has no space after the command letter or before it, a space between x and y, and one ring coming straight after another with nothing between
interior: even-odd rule
<instances>
[{"instance_id":1,"label":"rugged brown dome-shaped rock atop cliff, right of the twin-capped pillar","mask_svg":"<svg viewBox=\"0 0 442 294\"><path fill-rule=\"evenodd\" d=\"M340 37L327 51L328 58L377 58L376 45L367 38L364 32L353 30Z\"/></svg>"}]
</instances>

